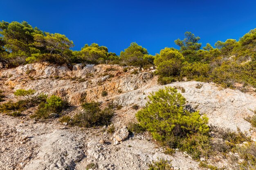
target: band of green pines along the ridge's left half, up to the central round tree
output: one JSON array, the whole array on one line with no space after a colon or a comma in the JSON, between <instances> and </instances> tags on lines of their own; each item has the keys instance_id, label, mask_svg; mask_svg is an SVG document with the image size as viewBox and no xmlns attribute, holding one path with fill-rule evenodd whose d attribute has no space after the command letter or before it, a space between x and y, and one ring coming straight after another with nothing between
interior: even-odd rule
<instances>
[{"instance_id":1,"label":"band of green pines along the ridge's left half, up to the central round tree","mask_svg":"<svg viewBox=\"0 0 256 170\"><path fill-rule=\"evenodd\" d=\"M92 43L81 51L71 51L73 42L65 35L47 33L33 28L27 22L0 22L0 62L5 66L47 61L53 64L119 63L115 53Z\"/></svg>"}]
</instances>

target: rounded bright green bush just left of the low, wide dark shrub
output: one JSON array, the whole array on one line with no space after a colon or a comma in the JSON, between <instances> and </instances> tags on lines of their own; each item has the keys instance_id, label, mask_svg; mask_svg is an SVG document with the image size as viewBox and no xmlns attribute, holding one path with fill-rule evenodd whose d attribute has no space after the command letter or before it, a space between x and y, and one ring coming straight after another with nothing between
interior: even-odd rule
<instances>
[{"instance_id":1,"label":"rounded bright green bush just left of the low, wide dark shrub","mask_svg":"<svg viewBox=\"0 0 256 170\"><path fill-rule=\"evenodd\" d=\"M60 97L52 95L46 99L46 102L41 102L38 110L31 115L38 119L48 119L51 117L58 117L62 110L68 107L67 102L63 101Z\"/></svg>"}]
</instances>

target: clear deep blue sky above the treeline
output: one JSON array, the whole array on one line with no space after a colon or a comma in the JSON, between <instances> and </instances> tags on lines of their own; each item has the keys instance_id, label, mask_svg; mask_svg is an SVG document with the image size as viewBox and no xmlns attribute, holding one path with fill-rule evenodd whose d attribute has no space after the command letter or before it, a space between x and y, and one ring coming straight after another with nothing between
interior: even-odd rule
<instances>
[{"instance_id":1,"label":"clear deep blue sky above the treeline","mask_svg":"<svg viewBox=\"0 0 256 170\"><path fill-rule=\"evenodd\" d=\"M120 54L131 42L150 54L175 47L191 31L202 46L238 40L256 28L254 0L1 0L0 20L27 21L73 40L73 50L95 42Z\"/></svg>"}]
</instances>

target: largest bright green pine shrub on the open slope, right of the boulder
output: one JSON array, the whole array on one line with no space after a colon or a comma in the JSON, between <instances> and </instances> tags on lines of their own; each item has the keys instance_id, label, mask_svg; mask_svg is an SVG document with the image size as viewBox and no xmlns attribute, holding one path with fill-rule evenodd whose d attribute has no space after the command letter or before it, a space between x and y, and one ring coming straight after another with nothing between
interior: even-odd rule
<instances>
[{"instance_id":1,"label":"largest bright green pine shrub on the open slope, right of the boulder","mask_svg":"<svg viewBox=\"0 0 256 170\"><path fill-rule=\"evenodd\" d=\"M181 148L197 159L209 147L208 118L185 109L186 99L175 88L152 93L136 117L154 139L170 148Z\"/></svg>"}]
</instances>

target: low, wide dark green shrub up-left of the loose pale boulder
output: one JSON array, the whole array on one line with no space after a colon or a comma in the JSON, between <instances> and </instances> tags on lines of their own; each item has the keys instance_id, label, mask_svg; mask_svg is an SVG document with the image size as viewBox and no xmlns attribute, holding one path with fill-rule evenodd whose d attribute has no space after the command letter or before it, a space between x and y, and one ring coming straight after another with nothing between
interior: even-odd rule
<instances>
[{"instance_id":1,"label":"low, wide dark green shrub up-left of the loose pale boulder","mask_svg":"<svg viewBox=\"0 0 256 170\"><path fill-rule=\"evenodd\" d=\"M114 115L113 110L110 108L101 110L99 106L97 102L82 104L83 111L74 116L72 125L81 127L109 125Z\"/></svg>"}]
</instances>

